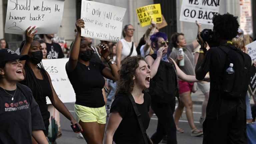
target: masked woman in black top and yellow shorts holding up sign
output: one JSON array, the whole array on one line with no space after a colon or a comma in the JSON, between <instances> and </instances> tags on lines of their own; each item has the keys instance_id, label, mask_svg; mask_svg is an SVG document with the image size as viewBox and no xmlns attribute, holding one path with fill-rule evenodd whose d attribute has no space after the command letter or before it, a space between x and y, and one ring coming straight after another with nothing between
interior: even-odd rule
<instances>
[{"instance_id":1,"label":"masked woman in black top and yellow shorts holding up sign","mask_svg":"<svg viewBox=\"0 0 256 144\"><path fill-rule=\"evenodd\" d=\"M104 77L118 80L118 68L109 56L107 44L102 44L99 48L110 68L90 61L93 51L86 40L81 41L81 28L84 28L82 19L76 21L76 28L77 34L66 63L66 72L76 94L74 109L77 121L83 129L81 133L87 143L100 144L103 142L107 115L102 94Z\"/></svg>"}]
</instances>

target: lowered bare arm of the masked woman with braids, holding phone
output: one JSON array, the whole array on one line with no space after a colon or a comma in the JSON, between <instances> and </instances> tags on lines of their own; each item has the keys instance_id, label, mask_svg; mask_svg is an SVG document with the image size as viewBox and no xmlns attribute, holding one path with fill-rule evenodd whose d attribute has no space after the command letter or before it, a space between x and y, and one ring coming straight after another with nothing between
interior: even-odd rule
<instances>
[{"instance_id":1,"label":"lowered bare arm of the masked woman with braids, holding phone","mask_svg":"<svg viewBox=\"0 0 256 144\"><path fill-rule=\"evenodd\" d=\"M51 89L52 89L52 95L53 95L53 99L51 100L52 105L59 111L61 112L67 119L70 120L71 124L75 124L77 123L76 120L74 119L74 117L72 116L72 114L69 112L69 110L67 109L67 107L64 105L64 103L59 99L58 95L56 94L53 86L52 86L52 81L51 81L51 77L49 76L48 72L45 71L47 74L47 77L49 79L50 85L51 85ZM79 123L77 123L79 125ZM79 125L80 126L80 125ZM80 126L81 128L81 126Z\"/></svg>"}]
</instances>

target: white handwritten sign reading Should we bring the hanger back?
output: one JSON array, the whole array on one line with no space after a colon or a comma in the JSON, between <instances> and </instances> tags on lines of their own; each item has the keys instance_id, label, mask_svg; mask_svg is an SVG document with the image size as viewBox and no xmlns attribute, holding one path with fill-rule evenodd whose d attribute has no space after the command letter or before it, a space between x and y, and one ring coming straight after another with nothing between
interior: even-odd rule
<instances>
[{"instance_id":1,"label":"white handwritten sign reading Should we bring the hanger back?","mask_svg":"<svg viewBox=\"0 0 256 144\"><path fill-rule=\"evenodd\" d=\"M64 0L8 0L5 33L24 34L36 26L37 34L54 34L61 24Z\"/></svg>"}]
</instances>

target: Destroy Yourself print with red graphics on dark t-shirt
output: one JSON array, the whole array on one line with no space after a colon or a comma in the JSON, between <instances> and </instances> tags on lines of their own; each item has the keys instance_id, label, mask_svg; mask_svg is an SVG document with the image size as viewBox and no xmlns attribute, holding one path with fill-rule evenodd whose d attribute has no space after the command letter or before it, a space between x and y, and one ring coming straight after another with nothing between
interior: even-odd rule
<instances>
[{"instance_id":1,"label":"Destroy Yourself print with red graphics on dark t-shirt","mask_svg":"<svg viewBox=\"0 0 256 144\"><path fill-rule=\"evenodd\" d=\"M10 111L18 111L18 110L28 109L29 104L28 104L27 100L24 100L24 101L19 101L16 103L5 103L4 107L5 107L6 112L10 112Z\"/></svg>"}]
</instances>

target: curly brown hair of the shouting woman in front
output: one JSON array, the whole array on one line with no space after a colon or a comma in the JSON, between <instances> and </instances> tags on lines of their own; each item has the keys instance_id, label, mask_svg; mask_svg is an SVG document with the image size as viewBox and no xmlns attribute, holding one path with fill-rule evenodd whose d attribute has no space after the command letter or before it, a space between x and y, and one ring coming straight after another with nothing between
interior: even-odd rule
<instances>
[{"instance_id":1,"label":"curly brown hair of the shouting woman in front","mask_svg":"<svg viewBox=\"0 0 256 144\"><path fill-rule=\"evenodd\" d=\"M116 94L130 94L134 87L133 76L135 76L135 70L139 67L139 61L145 59L140 55L131 56L121 61L121 67L118 71L119 80L117 83Z\"/></svg>"}]
</instances>

